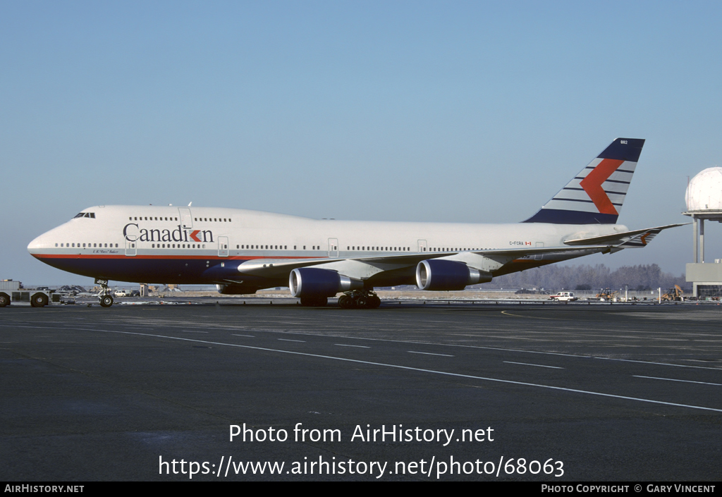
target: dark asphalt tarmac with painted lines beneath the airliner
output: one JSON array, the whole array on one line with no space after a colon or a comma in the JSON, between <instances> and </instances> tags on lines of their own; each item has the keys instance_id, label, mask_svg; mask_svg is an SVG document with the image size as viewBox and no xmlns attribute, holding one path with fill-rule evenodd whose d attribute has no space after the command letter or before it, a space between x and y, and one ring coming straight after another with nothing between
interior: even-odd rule
<instances>
[{"instance_id":1,"label":"dark asphalt tarmac with painted lines beneath the airliner","mask_svg":"<svg viewBox=\"0 0 722 497\"><path fill-rule=\"evenodd\" d=\"M0 309L1 480L720 477L722 306L127 303Z\"/></svg>"}]
</instances>

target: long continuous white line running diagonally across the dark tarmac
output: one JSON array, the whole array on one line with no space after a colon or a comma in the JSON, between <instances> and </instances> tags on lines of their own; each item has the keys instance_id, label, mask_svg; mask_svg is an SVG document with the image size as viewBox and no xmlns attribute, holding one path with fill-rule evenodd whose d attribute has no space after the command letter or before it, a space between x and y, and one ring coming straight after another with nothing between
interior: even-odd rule
<instances>
[{"instance_id":1,"label":"long continuous white line running diagonally across the dark tarmac","mask_svg":"<svg viewBox=\"0 0 722 497\"><path fill-rule=\"evenodd\" d=\"M305 352L295 352L293 350L269 349L267 347L253 347L252 345L239 345L236 343L210 342L208 340L196 340L193 338L169 337L168 335L162 335L162 334L149 334L149 333L139 333L139 332L120 332L120 331L111 330L111 329L79 329L79 331L118 333L118 334L136 334L141 337L165 338L168 340L181 340L183 342L199 342L199 343L207 343L210 345L226 345L227 347L239 347L239 348L244 348L244 349L263 350L264 352L277 352L277 353L283 353L283 354L305 355L307 357L315 357L315 358L321 358L321 359L342 360L342 361L348 362L348 363L360 363L360 364L368 364L370 366L383 366L385 368L405 369L407 371L419 371L421 373L440 374L443 376L454 376L456 378L471 378L471 379L477 379L477 380L482 380L482 381L494 381L496 383L505 383L505 384L512 384L512 385L536 386L537 388L560 390L562 392L573 392L573 393L577 393L577 394L596 395L599 397L610 397L613 399L625 399L625 400L635 400L637 402L648 402L650 404L671 405L674 407L687 407L689 409L722 412L722 409L715 409L714 407L677 404L676 402L664 402L661 400L641 399L639 397L627 397L625 395L605 394L603 392L591 392L590 390L570 389L570 388L565 388L564 386L542 385L542 384L536 384L536 383L527 383L525 381L503 380L503 379L498 379L498 378L487 378L484 376L474 376L474 375L470 375L470 374L450 373L448 371L436 371L433 369L412 368L411 366L401 366L399 364L374 363L370 360L339 358L339 357L334 357L333 355L311 354L311 353L305 353ZM279 340L282 340L282 339L279 339Z\"/></svg>"}]
</instances>

